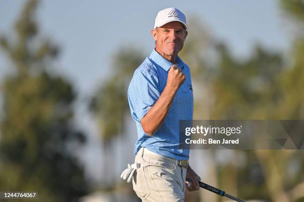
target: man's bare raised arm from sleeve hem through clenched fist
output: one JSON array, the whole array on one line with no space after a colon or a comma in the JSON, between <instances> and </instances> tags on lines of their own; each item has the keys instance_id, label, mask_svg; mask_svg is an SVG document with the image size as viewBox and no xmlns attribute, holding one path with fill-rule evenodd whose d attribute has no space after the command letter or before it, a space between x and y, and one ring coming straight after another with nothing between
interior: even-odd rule
<instances>
[{"instance_id":1,"label":"man's bare raised arm from sleeve hem through clenched fist","mask_svg":"<svg viewBox=\"0 0 304 202\"><path fill-rule=\"evenodd\" d=\"M152 136L160 128L170 109L176 92L185 81L185 78L185 75L177 65L174 64L171 66L168 72L166 87L159 96L159 99L141 119L142 127L148 135Z\"/></svg>"}]
</instances>

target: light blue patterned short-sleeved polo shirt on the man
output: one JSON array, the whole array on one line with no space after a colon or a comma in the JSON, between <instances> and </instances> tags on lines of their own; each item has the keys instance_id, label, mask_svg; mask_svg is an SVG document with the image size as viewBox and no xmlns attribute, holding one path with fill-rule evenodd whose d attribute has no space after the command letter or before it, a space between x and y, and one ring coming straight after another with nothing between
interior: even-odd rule
<instances>
[{"instance_id":1,"label":"light blue patterned short-sleeved polo shirt on the man","mask_svg":"<svg viewBox=\"0 0 304 202\"><path fill-rule=\"evenodd\" d=\"M177 160L189 159L189 150L179 149L179 120L192 120L192 83L190 69L179 56L177 56L176 64L182 69L186 79L176 92L161 127L152 136L145 133L140 121L164 90L168 71L173 63L153 49L151 55L134 72L128 89L128 100L138 133L135 154L144 147Z\"/></svg>"}]
</instances>

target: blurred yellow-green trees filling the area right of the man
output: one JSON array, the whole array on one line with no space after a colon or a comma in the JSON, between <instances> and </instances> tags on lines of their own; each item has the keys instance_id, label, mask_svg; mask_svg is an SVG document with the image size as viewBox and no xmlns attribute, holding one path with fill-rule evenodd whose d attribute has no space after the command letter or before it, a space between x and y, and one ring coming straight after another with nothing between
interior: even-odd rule
<instances>
[{"instance_id":1,"label":"blurred yellow-green trees filling the area right of the man","mask_svg":"<svg viewBox=\"0 0 304 202\"><path fill-rule=\"evenodd\" d=\"M198 30L204 30L199 23L194 24ZM301 93L304 86L304 40L295 41L292 62L287 63L280 52L261 46L256 46L245 59L235 58L223 43L204 46L204 40L209 37L203 32L202 35L204 37L200 38L199 34L191 36L189 33L186 49L182 51L183 60L194 65L194 71L191 65L190 68L192 82L196 84L193 89L196 119L304 118ZM213 57L202 54L208 52L206 48L215 50L215 64L210 65ZM235 167L228 163L210 169L222 172L214 177L218 177L218 182L223 185L235 184L236 180L240 198L277 201L284 196L283 201L291 200L291 193L303 181L301 151L234 152L245 154L246 166ZM288 173L293 161L300 162L301 166L294 173ZM235 172L238 175L233 179L231 175Z\"/></svg>"}]
</instances>

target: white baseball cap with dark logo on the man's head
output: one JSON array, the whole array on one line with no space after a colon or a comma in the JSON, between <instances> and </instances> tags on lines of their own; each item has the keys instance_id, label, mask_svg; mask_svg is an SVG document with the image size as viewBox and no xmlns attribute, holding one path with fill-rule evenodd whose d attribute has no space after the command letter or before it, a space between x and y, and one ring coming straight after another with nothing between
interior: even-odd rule
<instances>
[{"instance_id":1,"label":"white baseball cap with dark logo on the man's head","mask_svg":"<svg viewBox=\"0 0 304 202\"><path fill-rule=\"evenodd\" d=\"M155 18L154 29L172 21L181 22L185 28L188 29L185 14L177 8L165 8L160 10Z\"/></svg>"}]
</instances>

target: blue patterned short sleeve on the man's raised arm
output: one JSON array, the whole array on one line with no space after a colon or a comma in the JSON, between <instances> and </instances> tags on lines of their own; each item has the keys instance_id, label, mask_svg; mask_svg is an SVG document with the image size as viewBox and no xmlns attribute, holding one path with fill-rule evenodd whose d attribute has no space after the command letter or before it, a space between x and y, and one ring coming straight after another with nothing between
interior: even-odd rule
<instances>
[{"instance_id":1,"label":"blue patterned short sleeve on the man's raised arm","mask_svg":"<svg viewBox=\"0 0 304 202\"><path fill-rule=\"evenodd\" d=\"M157 75L146 69L137 69L128 89L131 115L140 122L160 96Z\"/></svg>"}]
</instances>

